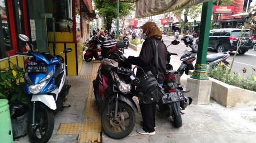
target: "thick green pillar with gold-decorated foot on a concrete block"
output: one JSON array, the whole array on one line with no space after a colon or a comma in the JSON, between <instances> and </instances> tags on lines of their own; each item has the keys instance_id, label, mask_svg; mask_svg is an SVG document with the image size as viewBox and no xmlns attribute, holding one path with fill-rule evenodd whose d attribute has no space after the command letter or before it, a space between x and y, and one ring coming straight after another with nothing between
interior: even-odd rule
<instances>
[{"instance_id":1,"label":"thick green pillar with gold-decorated foot on a concrete block","mask_svg":"<svg viewBox=\"0 0 256 143\"><path fill-rule=\"evenodd\" d=\"M210 25L211 25L212 5L213 5L213 0L210 0L209 2L204 2L202 6L198 53L197 53L195 70L191 75L191 78L193 79L200 79L200 80L209 79L207 76L206 55L207 55L207 47L209 43L209 31L210 31Z\"/></svg>"}]
</instances>

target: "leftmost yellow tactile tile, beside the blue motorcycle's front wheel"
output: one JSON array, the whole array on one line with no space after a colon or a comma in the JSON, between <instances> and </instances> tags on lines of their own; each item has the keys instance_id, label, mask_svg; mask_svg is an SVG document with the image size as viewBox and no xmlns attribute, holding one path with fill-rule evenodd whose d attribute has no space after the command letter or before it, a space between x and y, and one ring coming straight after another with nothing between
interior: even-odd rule
<instances>
[{"instance_id":1,"label":"leftmost yellow tactile tile, beside the blue motorcycle's front wheel","mask_svg":"<svg viewBox=\"0 0 256 143\"><path fill-rule=\"evenodd\" d=\"M81 123L61 123L57 134L79 134Z\"/></svg>"}]
</instances>

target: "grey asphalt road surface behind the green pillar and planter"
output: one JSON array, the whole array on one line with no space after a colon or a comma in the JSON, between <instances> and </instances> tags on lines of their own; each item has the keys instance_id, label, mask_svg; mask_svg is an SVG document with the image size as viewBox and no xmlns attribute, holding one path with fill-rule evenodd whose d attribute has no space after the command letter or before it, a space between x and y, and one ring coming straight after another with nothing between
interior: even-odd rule
<instances>
[{"instance_id":1,"label":"grey asphalt road surface behind the green pillar and planter","mask_svg":"<svg viewBox=\"0 0 256 143\"><path fill-rule=\"evenodd\" d=\"M171 41L173 41L174 38L167 38L163 37L163 41L165 45L170 45ZM177 55L172 55L172 58L180 59L181 55L183 54L184 50L191 50L191 48L186 47L186 45L183 43L183 41L180 41L180 44L178 45L171 45L168 47L169 52L171 53L177 53ZM214 54L216 52L207 52L208 54ZM232 59L234 57L235 52L229 52L230 56L228 57L227 61L231 64ZM194 61L194 64L196 63L196 60ZM256 72L252 70L252 68L256 69L256 51L249 50L244 55L236 55L236 58L234 60L234 64L232 67L232 71L234 72L240 72L241 75L243 75L243 72L241 71L243 68L247 69L247 72L244 74L244 76L249 76L251 73L256 75ZM175 70L175 69L174 69ZM177 70L177 69L176 69Z\"/></svg>"}]
</instances>

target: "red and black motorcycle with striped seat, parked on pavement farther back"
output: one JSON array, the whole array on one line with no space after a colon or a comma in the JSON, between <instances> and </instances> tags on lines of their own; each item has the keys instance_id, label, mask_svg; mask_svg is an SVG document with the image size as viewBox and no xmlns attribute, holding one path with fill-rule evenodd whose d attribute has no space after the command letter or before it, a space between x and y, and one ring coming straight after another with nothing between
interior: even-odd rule
<instances>
[{"instance_id":1,"label":"red and black motorcycle with striped seat, parked on pavement farther back","mask_svg":"<svg viewBox=\"0 0 256 143\"><path fill-rule=\"evenodd\" d=\"M103 57L108 57L111 52L116 50L116 40L99 41L93 38L86 44L88 47L84 54L84 59L86 62L90 62L93 57L96 60L102 60Z\"/></svg>"}]
</instances>

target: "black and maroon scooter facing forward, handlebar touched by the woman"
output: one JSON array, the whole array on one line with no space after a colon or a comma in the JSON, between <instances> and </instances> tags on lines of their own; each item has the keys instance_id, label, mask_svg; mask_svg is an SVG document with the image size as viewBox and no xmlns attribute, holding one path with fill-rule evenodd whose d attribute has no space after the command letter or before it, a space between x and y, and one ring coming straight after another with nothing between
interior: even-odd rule
<instances>
[{"instance_id":1,"label":"black and maroon scooter facing forward, handlebar touched by the woman","mask_svg":"<svg viewBox=\"0 0 256 143\"><path fill-rule=\"evenodd\" d=\"M118 48L124 45L118 42ZM104 58L98 69L97 78L93 81L96 102L102 114L102 128L111 138L120 139L128 136L135 126L137 106L132 97L135 86L129 78L133 73L127 59L115 51L111 58L118 62L115 67L110 59Z\"/></svg>"}]
</instances>

